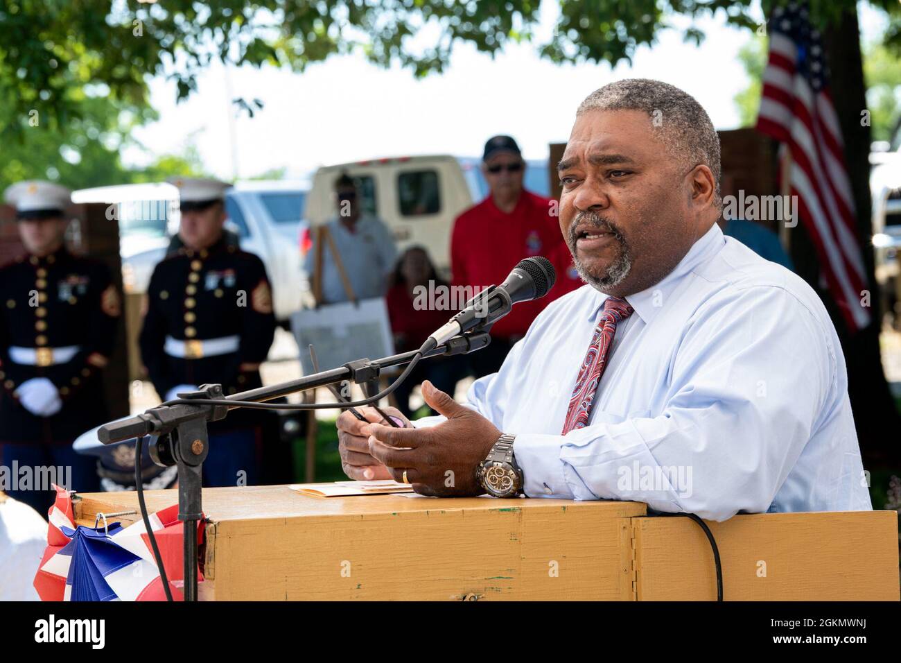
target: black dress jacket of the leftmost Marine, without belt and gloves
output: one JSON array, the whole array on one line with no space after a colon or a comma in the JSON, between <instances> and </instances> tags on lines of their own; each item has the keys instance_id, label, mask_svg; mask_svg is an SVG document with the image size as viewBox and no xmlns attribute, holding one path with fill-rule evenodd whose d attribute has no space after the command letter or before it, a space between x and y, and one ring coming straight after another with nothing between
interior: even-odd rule
<instances>
[{"instance_id":1,"label":"black dress jacket of the leftmost Marine, without belt and gloves","mask_svg":"<svg viewBox=\"0 0 901 663\"><path fill-rule=\"evenodd\" d=\"M106 266L65 248L26 255L0 268L0 441L71 443L107 417L100 375L113 351L122 299ZM59 363L55 348L78 346ZM33 349L33 364L17 364L10 347ZM62 409L51 417L25 410L16 390L49 378Z\"/></svg>"}]
</instances>

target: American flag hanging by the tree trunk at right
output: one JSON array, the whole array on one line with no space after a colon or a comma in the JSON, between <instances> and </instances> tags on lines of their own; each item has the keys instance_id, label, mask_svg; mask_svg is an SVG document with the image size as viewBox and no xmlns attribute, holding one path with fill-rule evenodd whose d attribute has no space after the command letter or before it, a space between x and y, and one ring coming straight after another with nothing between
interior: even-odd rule
<instances>
[{"instance_id":1,"label":"American flag hanging by the tree trunk at right","mask_svg":"<svg viewBox=\"0 0 901 663\"><path fill-rule=\"evenodd\" d=\"M867 327L869 313L860 304L867 279L842 130L823 41L803 3L777 7L770 16L757 129L787 145L791 163L782 177L797 197L797 213L816 246L821 274L849 329Z\"/></svg>"}]
</instances>

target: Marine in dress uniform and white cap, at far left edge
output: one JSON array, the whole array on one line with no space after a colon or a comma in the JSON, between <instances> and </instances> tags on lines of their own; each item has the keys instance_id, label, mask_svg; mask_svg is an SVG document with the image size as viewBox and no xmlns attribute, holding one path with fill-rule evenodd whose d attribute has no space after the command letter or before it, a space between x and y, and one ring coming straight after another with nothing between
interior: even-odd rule
<instances>
[{"instance_id":1,"label":"Marine in dress uniform and white cap, at far left edge","mask_svg":"<svg viewBox=\"0 0 901 663\"><path fill-rule=\"evenodd\" d=\"M6 492L46 512L53 474L79 492L99 487L95 465L75 454L72 440L109 419L100 374L121 299L104 264L66 249L68 189L25 181L5 198L27 253L0 269L2 464L17 474Z\"/></svg>"}]
</instances>

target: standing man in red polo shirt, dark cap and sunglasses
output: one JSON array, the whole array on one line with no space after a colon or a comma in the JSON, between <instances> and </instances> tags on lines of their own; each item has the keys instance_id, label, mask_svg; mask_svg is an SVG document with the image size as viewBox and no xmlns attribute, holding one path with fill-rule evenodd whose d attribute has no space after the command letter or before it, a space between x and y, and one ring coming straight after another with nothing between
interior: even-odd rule
<instances>
[{"instance_id":1,"label":"standing man in red polo shirt, dark cap and sunglasses","mask_svg":"<svg viewBox=\"0 0 901 663\"><path fill-rule=\"evenodd\" d=\"M583 284L560 235L556 205L523 189L524 171L523 155L513 138L488 139L482 156L487 198L458 216L451 233L453 283L479 288L501 283L517 262L530 255L543 255L554 264L557 283L546 297L517 304L495 323L491 344L469 355L476 377L496 373L542 309Z\"/></svg>"}]
</instances>

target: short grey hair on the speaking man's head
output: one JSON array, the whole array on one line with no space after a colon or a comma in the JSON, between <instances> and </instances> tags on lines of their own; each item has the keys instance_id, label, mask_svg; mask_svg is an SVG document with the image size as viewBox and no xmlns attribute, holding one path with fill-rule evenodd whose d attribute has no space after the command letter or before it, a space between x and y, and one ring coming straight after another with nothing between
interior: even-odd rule
<instances>
[{"instance_id":1,"label":"short grey hair on the speaking man's head","mask_svg":"<svg viewBox=\"0 0 901 663\"><path fill-rule=\"evenodd\" d=\"M658 138L686 168L703 163L714 174L714 204L720 196L720 138L704 107L684 90L651 78L625 78L585 97L576 116L593 110L640 110L651 117ZM659 121L659 124L658 124Z\"/></svg>"}]
</instances>

